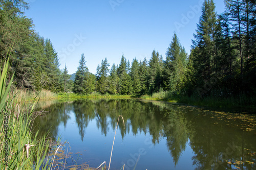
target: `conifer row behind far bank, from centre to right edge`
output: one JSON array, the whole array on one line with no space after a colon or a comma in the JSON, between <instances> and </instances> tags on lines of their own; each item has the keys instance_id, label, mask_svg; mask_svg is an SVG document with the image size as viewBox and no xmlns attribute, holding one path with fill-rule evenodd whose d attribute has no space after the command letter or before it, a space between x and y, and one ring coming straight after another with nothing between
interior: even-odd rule
<instances>
[{"instance_id":1,"label":"conifer row behind far bank, from centre to right edge","mask_svg":"<svg viewBox=\"0 0 256 170\"><path fill-rule=\"evenodd\" d=\"M256 2L225 0L225 8L224 13L217 14L214 1L204 1L189 56L174 33L165 60L154 50L150 61L135 58L130 66L122 56L120 64L113 64L109 69L105 58L98 65L95 77L89 73L82 79L76 76L74 92L152 94L171 91L201 98L253 96L256 92ZM85 65L83 55L80 65L81 62Z\"/></svg>"}]
</instances>

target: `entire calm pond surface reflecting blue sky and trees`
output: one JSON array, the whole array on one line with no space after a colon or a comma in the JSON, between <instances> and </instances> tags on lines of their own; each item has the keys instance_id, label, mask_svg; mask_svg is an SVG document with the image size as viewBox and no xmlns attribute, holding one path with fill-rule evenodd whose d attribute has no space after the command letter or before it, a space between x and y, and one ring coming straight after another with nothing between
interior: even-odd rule
<instances>
[{"instance_id":1,"label":"entire calm pond surface reflecting blue sky and trees","mask_svg":"<svg viewBox=\"0 0 256 170\"><path fill-rule=\"evenodd\" d=\"M111 169L256 169L256 116L165 102L76 100L40 103L40 133L70 144L68 165ZM67 149L66 148L66 149ZM237 167L236 167L237 166ZM101 168L100 168L101 169Z\"/></svg>"}]
</instances>

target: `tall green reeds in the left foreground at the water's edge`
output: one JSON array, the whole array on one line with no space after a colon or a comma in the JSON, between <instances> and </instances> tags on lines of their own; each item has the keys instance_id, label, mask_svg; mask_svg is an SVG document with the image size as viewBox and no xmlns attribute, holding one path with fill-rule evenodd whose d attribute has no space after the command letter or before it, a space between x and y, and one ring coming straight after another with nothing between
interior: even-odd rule
<instances>
[{"instance_id":1,"label":"tall green reeds in the left foreground at the water's edge","mask_svg":"<svg viewBox=\"0 0 256 170\"><path fill-rule=\"evenodd\" d=\"M8 63L9 59L0 78L0 169L51 169L52 160L47 159L51 141L46 135L38 140L38 131L31 130L36 99L25 104L18 102L25 98L23 94L9 93L13 76L7 85Z\"/></svg>"}]
</instances>

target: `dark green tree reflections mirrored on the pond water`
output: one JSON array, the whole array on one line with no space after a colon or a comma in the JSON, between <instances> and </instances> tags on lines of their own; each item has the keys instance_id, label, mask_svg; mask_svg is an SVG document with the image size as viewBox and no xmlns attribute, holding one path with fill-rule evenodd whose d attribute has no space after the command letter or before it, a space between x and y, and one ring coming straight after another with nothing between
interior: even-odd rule
<instances>
[{"instance_id":1,"label":"dark green tree reflections mirrored on the pond water","mask_svg":"<svg viewBox=\"0 0 256 170\"><path fill-rule=\"evenodd\" d=\"M54 102L45 110L49 113L37 117L34 125L40 126L40 134L51 128L50 136L54 138L57 138L60 125L66 128L72 114L75 116L75 125L81 141L84 140L92 120L96 121L101 134L108 136L108 133L115 129L121 114L125 123L124 128L123 124L118 125L122 139L132 133L133 136L150 134L154 145L161 139L166 140L166 149L174 162L172 168L178 166L180 157L188 154L186 147L190 147L193 154L188 155L189 158L185 161L192 159L193 165L187 165L187 169L231 169L236 168L236 165L241 169L256 169L255 115L215 112L138 100L62 101ZM169 158L166 163L168 160ZM228 163L229 160L232 165ZM235 161L243 163L233 164ZM157 162L158 160L155 160L156 164ZM157 167L165 168L165 165L159 164ZM128 168L127 166L126 169Z\"/></svg>"}]
</instances>

